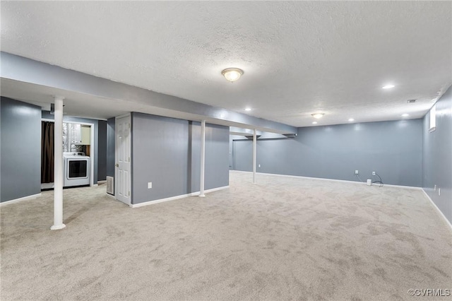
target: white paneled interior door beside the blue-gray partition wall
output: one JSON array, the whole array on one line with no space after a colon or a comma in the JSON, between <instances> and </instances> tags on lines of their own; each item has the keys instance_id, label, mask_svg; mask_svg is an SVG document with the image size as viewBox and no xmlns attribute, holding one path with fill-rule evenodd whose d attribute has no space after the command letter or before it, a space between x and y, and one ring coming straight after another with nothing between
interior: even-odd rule
<instances>
[{"instance_id":1,"label":"white paneled interior door beside the blue-gray partition wall","mask_svg":"<svg viewBox=\"0 0 452 301\"><path fill-rule=\"evenodd\" d=\"M128 205L131 203L131 144L130 115L116 119L116 167L115 184L116 199Z\"/></svg>"}]
</instances>

